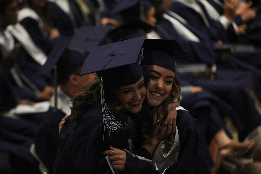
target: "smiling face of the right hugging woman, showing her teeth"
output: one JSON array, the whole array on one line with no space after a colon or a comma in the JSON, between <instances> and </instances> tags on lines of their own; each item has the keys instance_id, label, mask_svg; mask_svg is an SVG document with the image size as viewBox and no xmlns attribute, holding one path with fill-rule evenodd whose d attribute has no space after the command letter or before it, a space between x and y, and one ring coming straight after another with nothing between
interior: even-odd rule
<instances>
[{"instance_id":1,"label":"smiling face of the right hugging woman, showing her teeth","mask_svg":"<svg viewBox=\"0 0 261 174\"><path fill-rule=\"evenodd\" d=\"M150 77L146 92L147 103L159 106L171 93L175 73L156 65L149 65L146 73Z\"/></svg>"}]
</instances>

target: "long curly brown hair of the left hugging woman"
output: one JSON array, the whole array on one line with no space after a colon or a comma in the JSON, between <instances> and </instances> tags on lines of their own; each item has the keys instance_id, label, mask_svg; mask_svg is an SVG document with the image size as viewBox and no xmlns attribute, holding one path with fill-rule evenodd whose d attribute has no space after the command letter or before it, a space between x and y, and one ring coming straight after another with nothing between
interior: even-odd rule
<instances>
[{"instance_id":1,"label":"long curly brown hair of the left hugging woman","mask_svg":"<svg viewBox=\"0 0 261 174\"><path fill-rule=\"evenodd\" d=\"M96 76L90 84L81 88L80 92L72 99L72 117L73 119L80 119L84 113L92 108L101 108L100 99L100 81ZM123 131L128 138L137 136L136 126L133 119L138 117L138 114L124 112L123 105L117 100L116 95L119 92L119 86L109 86L104 84L104 97L106 105L113 116L121 121L123 124ZM132 119L133 118L133 119Z\"/></svg>"}]
</instances>

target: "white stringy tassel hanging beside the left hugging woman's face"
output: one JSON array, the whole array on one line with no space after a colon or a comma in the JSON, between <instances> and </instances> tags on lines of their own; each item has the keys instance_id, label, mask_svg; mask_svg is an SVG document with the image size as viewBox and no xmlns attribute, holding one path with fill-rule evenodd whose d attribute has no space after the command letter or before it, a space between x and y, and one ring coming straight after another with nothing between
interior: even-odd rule
<instances>
[{"instance_id":1,"label":"white stringy tassel hanging beside the left hugging woman's face","mask_svg":"<svg viewBox=\"0 0 261 174\"><path fill-rule=\"evenodd\" d=\"M104 99L104 90L103 90L103 80L101 78L100 80L100 94L101 94L101 105L102 105L102 116L103 116L103 124L104 124L104 133L105 133L105 125L109 132L114 132L118 127L123 128L121 121L119 119L115 119L113 114L108 109L105 99ZM103 139L104 139L104 133L103 133ZM109 133L110 137L110 133Z\"/></svg>"}]
</instances>

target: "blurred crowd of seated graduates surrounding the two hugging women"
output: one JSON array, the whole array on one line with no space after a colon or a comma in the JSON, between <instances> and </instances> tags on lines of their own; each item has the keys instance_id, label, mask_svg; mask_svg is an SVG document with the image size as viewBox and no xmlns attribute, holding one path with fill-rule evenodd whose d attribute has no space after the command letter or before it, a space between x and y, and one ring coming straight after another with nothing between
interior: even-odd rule
<instances>
[{"instance_id":1,"label":"blurred crowd of seated graduates surrounding the two hugging women","mask_svg":"<svg viewBox=\"0 0 261 174\"><path fill-rule=\"evenodd\" d=\"M220 156L233 168L226 172L252 164L254 153L226 154L228 144L252 149L253 140L261 151L261 1L0 0L0 173L52 173L59 123L95 77L80 76L88 52L140 36L174 39L193 60L176 62L176 75L198 152L210 149L195 158L195 173L218 173ZM59 53L68 39L81 54ZM46 62L57 55L54 70ZM46 101L43 112L11 112Z\"/></svg>"}]
</instances>

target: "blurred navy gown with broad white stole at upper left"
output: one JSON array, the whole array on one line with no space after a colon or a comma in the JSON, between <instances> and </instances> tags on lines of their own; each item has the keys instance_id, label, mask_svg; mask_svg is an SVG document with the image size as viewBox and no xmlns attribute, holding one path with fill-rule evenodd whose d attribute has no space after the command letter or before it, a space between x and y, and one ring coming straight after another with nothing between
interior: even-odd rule
<instances>
[{"instance_id":1,"label":"blurred navy gown with broad white stole at upper left","mask_svg":"<svg viewBox=\"0 0 261 174\"><path fill-rule=\"evenodd\" d=\"M47 60L47 55L52 50L54 42L50 40L47 33L44 32L43 23L35 11L30 8L24 8L19 12L18 19L19 23L16 24L14 28L12 28L12 26L8 28L16 39L16 42L21 43L21 48L17 55L17 63L23 74L41 91L46 85L52 86L53 84L49 74L42 76L37 76L37 74L39 68L44 65ZM15 35L15 29L17 27L23 29L25 32L23 35L28 35L29 39L23 37L21 34ZM34 45L34 47L27 48L27 46L31 44ZM37 55L34 55L32 50L36 51Z\"/></svg>"}]
</instances>

